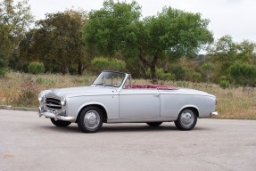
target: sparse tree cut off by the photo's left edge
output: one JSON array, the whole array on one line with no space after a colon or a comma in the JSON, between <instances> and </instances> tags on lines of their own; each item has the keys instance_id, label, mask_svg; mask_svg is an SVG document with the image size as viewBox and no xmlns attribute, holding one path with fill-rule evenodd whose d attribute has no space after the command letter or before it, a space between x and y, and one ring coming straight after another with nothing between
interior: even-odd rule
<instances>
[{"instance_id":1,"label":"sparse tree cut off by the photo's left edge","mask_svg":"<svg viewBox=\"0 0 256 171\"><path fill-rule=\"evenodd\" d=\"M28 0L4 0L0 3L0 68L6 67L13 49L19 45L33 21Z\"/></svg>"}]
</instances>

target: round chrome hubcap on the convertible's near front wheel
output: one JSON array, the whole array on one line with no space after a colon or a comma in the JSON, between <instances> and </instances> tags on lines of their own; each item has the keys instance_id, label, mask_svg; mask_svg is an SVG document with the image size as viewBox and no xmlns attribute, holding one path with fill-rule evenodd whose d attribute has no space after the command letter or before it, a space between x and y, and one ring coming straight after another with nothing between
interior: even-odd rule
<instances>
[{"instance_id":1,"label":"round chrome hubcap on the convertible's near front wheel","mask_svg":"<svg viewBox=\"0 0 256 171\"><path fill-rule=\"evenodd\" d=\"M100 115L95 110L89 110L85 115L84 122L87 127L94 129L100 123Z\"/></svg>"}]
</instances>

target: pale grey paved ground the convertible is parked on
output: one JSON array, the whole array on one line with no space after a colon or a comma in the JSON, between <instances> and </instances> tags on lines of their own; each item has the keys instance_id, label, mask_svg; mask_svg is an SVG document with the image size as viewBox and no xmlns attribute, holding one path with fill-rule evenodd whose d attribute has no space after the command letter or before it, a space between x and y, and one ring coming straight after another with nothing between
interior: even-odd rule
<instances>
[{"instance_id":1,"label":"pale grey paved ground the convertible is parked on","mask_svg":"<svg viewBox=\"0 0 256 171\"><path fill-rule=\"evenodd\" d=\"M0 110L0 170L256 170L256 121L198 119L192 131L174 123L104 124L96 134L56 127L35 111Z\"/></svg>"}]
</instances>

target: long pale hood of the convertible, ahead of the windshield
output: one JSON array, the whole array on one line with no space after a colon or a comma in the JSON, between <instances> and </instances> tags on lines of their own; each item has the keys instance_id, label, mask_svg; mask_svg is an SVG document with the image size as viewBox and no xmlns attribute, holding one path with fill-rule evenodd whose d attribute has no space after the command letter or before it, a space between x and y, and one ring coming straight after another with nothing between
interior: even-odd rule
<instances>
[{"instance_id":1,"label":"long pale hood of the convertible, ahead of the windshield","mask_svg":"<svg viewBox=\"0 0 256 171\"><path fill-rule=\"evenodd\" d=\"M107 95L117 92L116 88L108 86L80 86L80 87L70 87L70 88L57 88L51 90L45 90L41 94L46 96L84 96L84 95Z\"/></svg>"}]
</instances>

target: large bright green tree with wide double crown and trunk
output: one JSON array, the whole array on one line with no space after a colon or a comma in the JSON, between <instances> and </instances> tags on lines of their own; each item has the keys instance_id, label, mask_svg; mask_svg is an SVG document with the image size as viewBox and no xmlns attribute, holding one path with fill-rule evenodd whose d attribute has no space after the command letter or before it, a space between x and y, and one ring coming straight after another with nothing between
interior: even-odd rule
<instances>
[{"instance_id":1,"label":"large bright green tree with wide double crown and trunk","mask_svg":"<svg viewBox=\"0 0 256 171\"><path fill-rule=\"evenodd\" d=\"M157 16L140 17L141 7L135 1L105 1L102 9L89 13L84 41L88 48L105 55L121 52L126 58L140 60L151 69L153 83L157 81L158 61L193 56L212 41L209 20L202 20L199 13L169 7Z\"/></svg>"}]
</instances>

